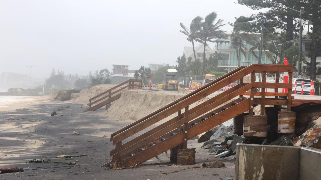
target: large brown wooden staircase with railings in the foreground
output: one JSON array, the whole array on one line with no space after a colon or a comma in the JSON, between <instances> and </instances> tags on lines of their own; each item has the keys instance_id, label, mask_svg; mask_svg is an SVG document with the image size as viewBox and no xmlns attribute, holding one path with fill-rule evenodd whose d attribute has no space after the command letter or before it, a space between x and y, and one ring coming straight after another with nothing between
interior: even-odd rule
<instances>
[{"instance_id":1,"label":"large brown wooden staircase with railings in the foreground","mask_svg":"<svg viewBox=\"0 0 321 180\"><path fill-rule=\"evenodd\" d=\"M289 72L289 84L278 83L280 72ZM292 65L252 64L241 66L112 133L110 141L113 141L116 148L110 151L109 155L112 156L112 160L103 166L121 159L123 162L125 160L128 165L137 162L143 163L179 144L183 144L185 149L187 148L187 140L196 135L243 112L248 111L250 115L253 115L253 107L256 104L261 104L261 113L263 114L265 105L287 105L287 110L291 110L292 72ZM255 82L256 73L262 75L262 82ZM266 73L275 74L276 83L266 83ZM248 74L251 74L251 82L244 83L243 77ZM208 100L198 105L193 104L235 81L239 81L239 84L229 90L213 97L210 96ZM261 88L261 92L254 92L255 88ZM273 88L275 93L265 92L265 88ZM278 93L278 88L286 88L289 93ZM243 94L249 95L249 97L243 97ZM273 96L273 98L265 98L265 96ZM279 96L287 98L280 99ZM176 117L122 144L123 140L175 113L177 113Z\"/></svg>"}]
</instances>

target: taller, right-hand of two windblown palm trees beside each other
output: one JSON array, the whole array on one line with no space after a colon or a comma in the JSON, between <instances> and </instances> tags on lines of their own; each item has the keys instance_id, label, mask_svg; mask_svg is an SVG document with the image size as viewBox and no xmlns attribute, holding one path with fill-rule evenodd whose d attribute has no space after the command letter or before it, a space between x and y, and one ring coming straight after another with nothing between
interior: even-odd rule
<instances>
[{"instance_id":1,"label":"taller, right-hand of two windblown palm trees beside each other","mask_svg":"<svg viewBox=\"0 0 321 180\"><path fill-rule=\"evenodd\" d=\"M201 28L199 30L198 37L204 44L204 52L203 52L203 73L205 74L205 49L206 49L206 42L213 42L213 38L222 39L226 38L227 34L226 31L221 30L221 27L225 24L223 20L219 19L216 23L214 21L217 18L216 12L211 12L209 15L205 17L204 22L201 23Z\"/></svg>"}]
</instances>

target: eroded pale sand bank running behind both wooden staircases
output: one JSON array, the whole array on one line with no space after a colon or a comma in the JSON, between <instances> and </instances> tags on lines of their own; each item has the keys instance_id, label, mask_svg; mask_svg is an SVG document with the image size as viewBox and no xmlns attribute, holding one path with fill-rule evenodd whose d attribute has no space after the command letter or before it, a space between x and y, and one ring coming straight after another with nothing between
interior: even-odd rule
<instances>
[{"instance_id":1,"label":"eroded pale sand bank running behind both wooden staircases","mask_svg":"<svg viewBox=\"0 0 321 180\"><path fill-rule=\"evenodd\" d=\"M79 94L72 94L71 99L75 102L88 105L89 98L100 94L101 92L106 91L113 86L115 85L98 85L90 89L83 89ZM136 121L183 97L184 95L190 93L190 91L151 91L141 89L124 89L121 93L121 97L118 100L112 102L111 106L108 108L108 110L106 110L105 114L106 116L108 116L108 119L112 119L115 121ZM204 99L195 102L194 104L189 106L189 109L219 93L220 92L215 92L205 97ZM182 110L182 113L183 112L184 109ZM169 116L164 120L171 119L175 116L177 116L177 113Z\"/></svg>"}]
</instances>

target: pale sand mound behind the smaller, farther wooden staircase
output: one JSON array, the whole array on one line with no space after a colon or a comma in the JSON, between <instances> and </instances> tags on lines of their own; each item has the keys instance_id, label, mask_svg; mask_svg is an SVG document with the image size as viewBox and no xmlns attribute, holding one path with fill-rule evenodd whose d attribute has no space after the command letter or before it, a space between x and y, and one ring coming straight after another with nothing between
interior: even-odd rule
<instances>
[{"instance_id":1,"label":"pale sand mound behind the smaller, farther wooden staircase","mask_svg":"<svg viewBox=\"0 0 321 180\"><path fill-rule=\"evenodd\" d=\"M88 99L98 95L112 87L116 86L116 84L101 84L97 86L93 86L91 88L85 88L80 91L78 94L71 94L70 99L74 102L82 103L88 105Z\"/></svg>"}]
</instances>

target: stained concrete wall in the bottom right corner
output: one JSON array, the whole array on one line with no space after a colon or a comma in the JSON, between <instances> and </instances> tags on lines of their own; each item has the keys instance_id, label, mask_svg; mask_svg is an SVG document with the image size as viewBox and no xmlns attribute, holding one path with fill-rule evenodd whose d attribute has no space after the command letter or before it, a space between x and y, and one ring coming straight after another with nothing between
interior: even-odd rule
<instances>
[{"instance_id":1,"label":"stained concrete wall in the bottom right corner","mask_svg":"<svg viewBox=\"0 0 321 180\"><path fill-rule=\"evenodd\" d=\"M237 180L320 179L321 151L314 148L238 144Z\"/></svg>"}]
</instances>

